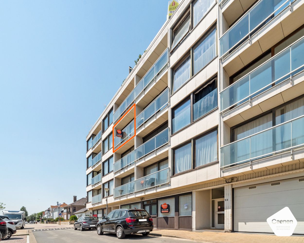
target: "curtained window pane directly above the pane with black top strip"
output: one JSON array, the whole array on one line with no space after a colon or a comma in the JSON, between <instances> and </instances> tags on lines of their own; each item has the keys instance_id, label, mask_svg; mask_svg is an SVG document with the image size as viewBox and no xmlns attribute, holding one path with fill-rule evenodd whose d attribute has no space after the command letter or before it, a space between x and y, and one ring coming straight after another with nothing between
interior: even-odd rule
<instances>
[{"instance_id":1,"label":"curtained window pane directly above the pane with black top strip","mask_svg":"<svg viewBox=\"0 0 304 243\"><path fill-rule=\"evenodd\" d=\"M193 50L194 74L197 74L216 56L216 29Z\"/></svg>"}]
</instances>

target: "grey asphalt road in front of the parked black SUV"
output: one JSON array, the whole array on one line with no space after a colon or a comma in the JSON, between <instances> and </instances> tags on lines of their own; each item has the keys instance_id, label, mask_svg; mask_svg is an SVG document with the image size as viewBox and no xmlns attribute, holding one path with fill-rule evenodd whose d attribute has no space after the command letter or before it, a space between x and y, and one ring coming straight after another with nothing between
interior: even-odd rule
<instances>
[{"instance_id":1,"label":"grey asphalt road in front of the parked black SUV","mask_svg":"<svg viewBox=\"0 0 304 243\"><path fill-rule=\"evenodd\" d=\"M44 230L33 231L37 243L75 243L75 242L144 242L144 243L189 243L195 242L191 240L184 240L171 237L159 237L159 236L143 236L141 234L126 235L126 238L120 240L116 238L115 234L104 233L98 235L96 230L75 231L74 229L61 229L61 230Z\"/></svg>"}]
</instances>

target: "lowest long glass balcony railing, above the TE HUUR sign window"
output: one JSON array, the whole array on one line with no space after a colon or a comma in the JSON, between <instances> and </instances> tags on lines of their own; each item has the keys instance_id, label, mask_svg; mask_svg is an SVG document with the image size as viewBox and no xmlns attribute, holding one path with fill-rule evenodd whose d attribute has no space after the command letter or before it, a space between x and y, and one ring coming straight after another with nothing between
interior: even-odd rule
<instances>
[{"instance_id":1,"label":"lowest long glass balcony railing, above the TE HUUR sign window","mask_svg":"<svg viewBox=\"0 0 304 243\"><path fill-rule=\"evenodd\" d=\"M170 168L159 170L120 187L114 188L114 197L120 197L130 193L160 186L170 182Z\"/></svg>"}]
</instances>

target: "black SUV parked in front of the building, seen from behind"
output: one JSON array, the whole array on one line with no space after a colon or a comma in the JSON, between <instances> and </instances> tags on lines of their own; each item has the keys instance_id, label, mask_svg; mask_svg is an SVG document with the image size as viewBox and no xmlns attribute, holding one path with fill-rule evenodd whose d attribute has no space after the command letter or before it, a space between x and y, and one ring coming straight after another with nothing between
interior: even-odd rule
<instances>
[{"instance_id":1,"label":"black SUV parked in front of the building, seen from behind","mask_svg":"<svg viewBox=\"0 0 304 243\"><path fill-rule=\"evenodd\" d=\"M122 239L126 234L148 235L153 230L153 220L143 209L116 209L97 223L97 234L114 233Z\"/></svg>"}]
</instances>

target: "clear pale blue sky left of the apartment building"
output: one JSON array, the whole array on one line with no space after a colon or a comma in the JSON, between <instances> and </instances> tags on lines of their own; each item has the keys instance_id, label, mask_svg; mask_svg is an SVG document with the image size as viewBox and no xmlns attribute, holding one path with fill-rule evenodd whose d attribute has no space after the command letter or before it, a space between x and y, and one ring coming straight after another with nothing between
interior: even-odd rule
<instances>
[{"instance_id":1,"label":"clear pale blue sky left of the apartment building","mask_svg":"<svg viewBox=\"0 0 304 243\"><path fill-rule=\"evenodd\" d=\"M86 196L86 135L167 7L167 0L0 1L6 210L33 213Z\"/></svg>"}]
</instances>

